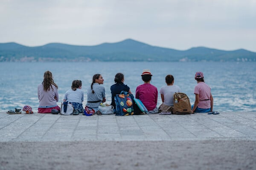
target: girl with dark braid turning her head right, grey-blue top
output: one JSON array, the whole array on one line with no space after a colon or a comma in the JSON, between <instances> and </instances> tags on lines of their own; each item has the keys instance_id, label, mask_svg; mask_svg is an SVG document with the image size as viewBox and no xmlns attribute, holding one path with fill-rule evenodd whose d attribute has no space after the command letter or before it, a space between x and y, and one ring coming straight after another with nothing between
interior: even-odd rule
<instances>
[{"instance_id":1,"label":"girl with dark braid turning her head right, grey-blue top","mask_svg":"<svg viewBox=\"0 0 256 170\"><path fill-rule=\"evenodd\" d=\"M87 106L98 111L101 103L106 102L105 88L102 86L104 79L102 75L93 75L93 82L87 90Z\"/></svg>"}]
</instances>

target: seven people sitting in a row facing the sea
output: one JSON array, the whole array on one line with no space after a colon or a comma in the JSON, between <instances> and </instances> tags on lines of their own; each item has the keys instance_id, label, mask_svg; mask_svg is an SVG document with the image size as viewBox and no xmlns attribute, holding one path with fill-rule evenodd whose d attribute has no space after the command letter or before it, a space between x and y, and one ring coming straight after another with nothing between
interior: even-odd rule
<instances>
[{"instance_id":1,"label":"seven people sitting in a row facing the sea","mask_svg":"<svg viewBox=\"0 0 256 170\"><path fill-rule=\"evenodd\" d=\"M144 69L141 74L143 84L137 86L135 92L135 98L140 99L144 104L148 113L173 113L174 106L174 94L181 92L179 86L174 85L174 77L172 75L166 76L166 86L160 89L160 95L162 104L157 108L157 96L158 91L154 85L151 85L151 71ZM192 112L212 112L213 98L211 89L204 83L204 74L202 72L196 72L195 80L197 85L195 86L195 102L192 105ZM128 92L131 94L131 90L128 85L124 84L124 75L117 73L114 82L111 85L111 105L113 106L114 113L116 112L115 96L120 94L121 91ZM105 88L102 86L104 79L101 74L93 75L93 81L90 88L87 90L87 107L98 111L99 106L106 101ZM74 80L72 82L71 89L68 90L65 95L63 102L70 102L74 108L74 115L84 112L82 102L84 101L84 91L81 90L81 80ZM44 73L43 82L38 85L38 113L52 113L52 111L59 112L61 108L57 105L59 100L58 86L55 84L52 78L52 73L46 71Z\"/></svg>"}]
</instances>

